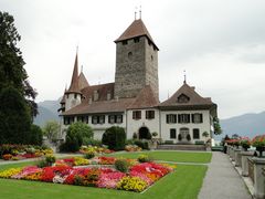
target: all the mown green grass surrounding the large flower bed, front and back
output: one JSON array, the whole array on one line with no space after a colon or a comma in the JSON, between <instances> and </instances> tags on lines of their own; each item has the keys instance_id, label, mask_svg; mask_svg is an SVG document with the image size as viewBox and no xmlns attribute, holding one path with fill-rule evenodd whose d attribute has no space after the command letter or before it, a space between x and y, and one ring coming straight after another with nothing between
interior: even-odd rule
<instances>
[{"instance_id":1,"label":"all the mown green grass surrounding the large flower bed, front and back","mask_svg":"<svg viewBox=\"0 0 265 199\"><path fill-rule=\"evenodd\" d=\"M141 153L142 154L142 153ZM146 153L144 153L146 154ZM177 151L151 151L156 159L170 161L193 161L206 163L211 159L211 154L206 153L177 153ZM189 158L184 158L183 156ZM139 153L126 154L130 158L138 157ZM125 157L125 154L118 156ZM126 157L127 157L126 156ZM198 158L197 156L200 156ZM2 165L0 170L33 165L34 161L15 163ZM158 180L144 193L100 189L92 187L77 187L67 185L46 184L39 181L25 181L13 179L0 179L0 198L4 199L83 199L83 198L172 198L172 199L195 199L205 176L208 167L204 165L177 165L174 172Z\"/></svg>"}]
</instances>

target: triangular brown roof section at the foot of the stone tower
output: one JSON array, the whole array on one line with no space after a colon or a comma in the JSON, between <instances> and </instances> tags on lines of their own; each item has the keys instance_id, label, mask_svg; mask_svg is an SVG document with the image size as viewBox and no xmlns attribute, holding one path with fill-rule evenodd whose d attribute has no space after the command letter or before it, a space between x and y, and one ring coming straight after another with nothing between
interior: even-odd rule
<instances>
[{"instance_id":1,"label":"triangular brown roof section at the foot of the stone tower","mask_svg":"<svg viewBox=\"0 0 265 199\"><path fill-rule=\"evenodd\" d=\"M155 107L158 104L159 104L159 101L153 94L151 86L147 85L140 91L140 93L137 95L136 100L128 107L128 109Z\"/></svg>"}]
</instances>

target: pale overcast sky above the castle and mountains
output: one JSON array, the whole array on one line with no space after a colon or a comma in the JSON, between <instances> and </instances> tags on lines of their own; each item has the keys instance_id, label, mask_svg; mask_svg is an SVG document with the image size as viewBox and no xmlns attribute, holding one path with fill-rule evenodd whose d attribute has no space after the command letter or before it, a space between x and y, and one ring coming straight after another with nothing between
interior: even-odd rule
<instances>
[{"instance_id":1,"label":"pale overcast sky above the castle and mountains","mask_svg":"<svg viewBox=\"0 0 265 199\"><path fill-rule=\"evenodd\" d=\"M160 101L187 82L219 117L265 111L264 0L0 0L14 17L36 102L70 85L76 46L89 84L114 82L116 40L141 19L159 51Z\"/></svg>"}]
</instances>

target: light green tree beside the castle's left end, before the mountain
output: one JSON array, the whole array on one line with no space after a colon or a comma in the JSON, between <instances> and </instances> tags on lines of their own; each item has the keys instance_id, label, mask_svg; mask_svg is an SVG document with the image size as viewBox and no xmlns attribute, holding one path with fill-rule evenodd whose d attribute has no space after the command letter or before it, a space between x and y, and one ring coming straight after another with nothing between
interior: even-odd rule
<instances>
[{"instance_id":1,"label":"light green tree beside the castle's left end, before the mountain","mask_svg":"<svg viewBox=\"0 0 265 199\"><path fill-rule=\"evenodd\" d=\"M43 127L43 134L50 140L54 140L59 138L60 133L60 124L56 121L49 121L45 123Z\"/></svg>"}]
</instances>

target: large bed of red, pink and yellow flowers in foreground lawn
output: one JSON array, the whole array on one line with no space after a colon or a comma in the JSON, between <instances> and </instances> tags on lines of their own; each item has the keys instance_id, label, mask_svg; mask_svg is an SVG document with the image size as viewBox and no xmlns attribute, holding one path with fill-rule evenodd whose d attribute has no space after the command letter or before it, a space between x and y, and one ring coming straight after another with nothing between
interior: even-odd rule
<instances>
[{"instance_id":1,"label":"large bed of red, pink and yellow flowers in foreground lawn","mask_svg":"<svg viewBox=\"0 0 265 199\"><path fill-rule=\"evenodd\" d=\"M100 164L113 165L116 158L99 157L95 158ZM87 160L87 159L86 159ZM54 184L66 184L76 186L89 186L108 189L120 189L141 192L155 181L167 174L173 171L169 165L156 163L130 163L129 170L121 172L115 168L97 167L98 165L87 165L92 160L85 161L84 158L68 158L59 160L52 167L39 168L30 166L24 168L11 168L0 172L0 178L36 180ZM87 165L87 167L76 167L76 165Z\"/></svg>"}]
</instances>

